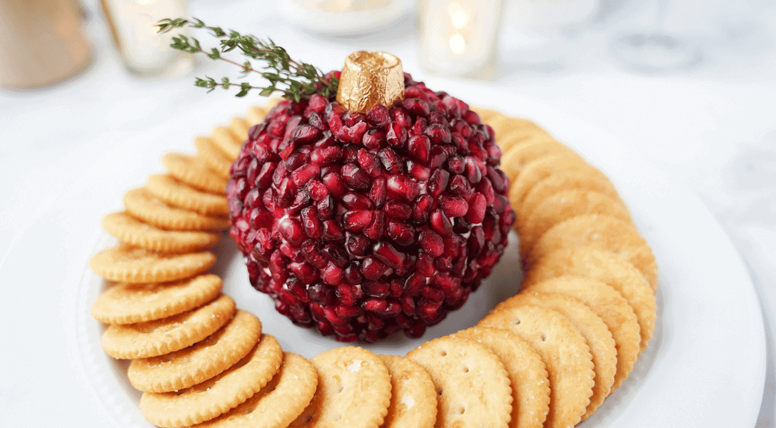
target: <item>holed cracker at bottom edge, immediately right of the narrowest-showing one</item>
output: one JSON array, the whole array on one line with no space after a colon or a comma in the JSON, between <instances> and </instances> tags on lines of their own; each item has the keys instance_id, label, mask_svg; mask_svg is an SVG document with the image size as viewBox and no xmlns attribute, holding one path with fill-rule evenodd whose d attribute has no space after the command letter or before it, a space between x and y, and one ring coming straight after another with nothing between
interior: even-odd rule
<instances>
[{"instance_id":1,"label":"holed cracker at bottom edge, immediately right of the narrowest-showing one","mask_svg":"<svg viewBox=\"0 0 776 428\"><path fill-rule=\"evenodd\" d=\"M438 337L407 353L434 381L437 426L506 428L512 391L504 364L492 350L464 337Z\"/></svg>"}]
</instances>

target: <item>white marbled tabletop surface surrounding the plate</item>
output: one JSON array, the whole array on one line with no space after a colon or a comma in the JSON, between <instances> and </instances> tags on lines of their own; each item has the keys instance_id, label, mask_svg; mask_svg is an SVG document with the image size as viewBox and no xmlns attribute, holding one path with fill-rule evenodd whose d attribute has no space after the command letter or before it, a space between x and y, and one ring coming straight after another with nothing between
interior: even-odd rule
<instances>
[{"instance_id":1,"label":"white marbled tabletop surface surrounding the plate","mask_svg":"<svg viewBox=\"0 0 776 428\"><path fill-rule=\"evenodd\" d=\"M323 70L340 68L353 50L386 50L418 80L444 85L419 67L411 22L362 38L320 37L258 3L192 2L192 14L270 36ZM481 85L605 129L705 202L750 268L764 309L764 427L776 419L776 12L753 3L757 14L702 34L705 56L689 71L625 71L607 54L612 26L598 22L573 42L563 67L531 71L502 58L497 78ZM85 381L69 330L99 221L120 209L126 189L162 171L166 149L190 147L192 136L258 102L194 88L193 75L234 75L210 61L182 78L133 78L87 6L95 43L88 71L37 91L0 91L0 426L115 425Z\"/></svg>"}]
</instances>

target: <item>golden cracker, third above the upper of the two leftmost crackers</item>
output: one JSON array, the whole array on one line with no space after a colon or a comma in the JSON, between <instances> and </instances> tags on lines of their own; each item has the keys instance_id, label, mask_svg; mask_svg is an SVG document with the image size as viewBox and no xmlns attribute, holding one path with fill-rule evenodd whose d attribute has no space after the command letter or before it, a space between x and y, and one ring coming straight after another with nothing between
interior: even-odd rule
<instances>
[{"instance_id":1,"label":"golden cracker, third above the upper of the two leftmost crackers","mask_svg":"<svg viewBox=\"0 0 776 428\"><path fill-rule=\"evenodd\" d=\"M171 175L151 174L148 177L146 188L148 192L151 192L151 195L178 208L199 212L199 214L206 216L229 215L229 204L226 196L200 192Z\"/></svg>"}]
</instances>

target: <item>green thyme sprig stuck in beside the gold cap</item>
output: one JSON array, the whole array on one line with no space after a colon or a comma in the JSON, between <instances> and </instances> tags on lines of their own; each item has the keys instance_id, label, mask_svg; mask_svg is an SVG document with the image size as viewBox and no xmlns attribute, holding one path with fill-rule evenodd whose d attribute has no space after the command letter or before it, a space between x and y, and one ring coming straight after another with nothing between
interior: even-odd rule
<instances>
[{"instance_id":1,"label":"green thyme sprig stuck in beside the gold cap","mask_svg":"<svg viewBox=\"0 0 776 428\"><path fill-rule=\"evenodd\" d=\"M280 92L284 98L296 102L303 98L310 98L314 94L324 95L327 98L334 98L337 95L339 81L334 75L327 76L314 65L293 60L285 49L277 46L270 39L260 40L250 34L243 35L234 30L227 32L217 26L207 26L205 22L196 18L192 20L165 18L161 19L157 26L159 33L168 33L172 29L185 26L208 29L211 35L219 40L220 47L203 48L199 40L183 34L173 36L170 47L189 54L205 54L211 60L225 61L240 67L242 74L258 73L269 82L269 85L266 86L255 86L247 81L236 83L226 77L217 81L205 76L205 78L196 78L194 82L194 85L200 88L208 88L213 91L220 87L228 90L234 85L240 88L240 91L235 95L237 97L244 97L248 95L249 91L258 90L259 95L263 96ZM239 63L223 57L224 53L233 50L240 50L244 57L247 57L247 60ZM251 60L265 62L266 66L256 68Z\"/></svg>"}]
</instances>

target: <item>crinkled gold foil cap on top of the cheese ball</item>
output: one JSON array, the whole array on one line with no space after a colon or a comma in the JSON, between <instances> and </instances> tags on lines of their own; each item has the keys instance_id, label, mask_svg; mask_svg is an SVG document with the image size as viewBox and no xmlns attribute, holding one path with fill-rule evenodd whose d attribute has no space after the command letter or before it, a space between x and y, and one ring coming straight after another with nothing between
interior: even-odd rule
<instances>
[{"instance_id":1,"label":"crinkled gold foil cap on top of the cheese ball","mask_svg":"<svg viewBox=\"0 0 776 428\"><path fill-rule=\"evenodd\" d=\"M353 112L368 112L375 105L390 107L404 100L401 60L386 52L359 50L345 58L337 102Z\"/></svg>"}]
</instances>

